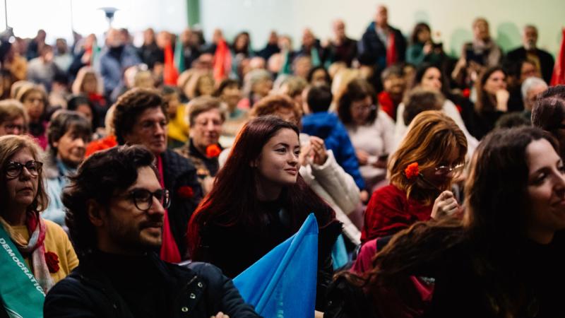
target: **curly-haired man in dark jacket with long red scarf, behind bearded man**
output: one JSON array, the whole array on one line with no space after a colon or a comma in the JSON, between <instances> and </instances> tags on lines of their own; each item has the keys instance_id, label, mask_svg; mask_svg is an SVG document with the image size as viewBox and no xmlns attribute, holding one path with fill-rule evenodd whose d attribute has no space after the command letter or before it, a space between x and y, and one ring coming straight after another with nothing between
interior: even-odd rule
<instances>
[{"instance_id":1,"label":"curly-haired man in dark jacket with long red scarf, behind bearded man","mask_svg":"<svg viewBox=\"0 0 565 318\"><path fill-rule=\"evenodd\" d=\"M114 129L120 145L143 145L155 155L160 181L171 195L161 258L175 263L188 258L186 228L202 199L202 189L191 161L167 149L166 114L165 102L156 90L134 88L116 103Z\"/></svg>"}]
</instances>

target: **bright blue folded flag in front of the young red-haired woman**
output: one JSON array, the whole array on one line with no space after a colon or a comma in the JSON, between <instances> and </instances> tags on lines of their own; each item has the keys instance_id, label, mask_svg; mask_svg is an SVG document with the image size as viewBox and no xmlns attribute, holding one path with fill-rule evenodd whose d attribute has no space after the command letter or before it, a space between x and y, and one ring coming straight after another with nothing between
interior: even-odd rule
<instances>
[{"instance_id":1,"label":"bright blue folded flag in front of the young red-haired woman","mask_svg":"<svg viewBox=\"0 0 565 318\"><path fill-rule=\"evenodd\" d=\"M318 223L311 213L300 230L234 278L246 302L265 318L314 317Z\"/></svg>"}]
</instances>

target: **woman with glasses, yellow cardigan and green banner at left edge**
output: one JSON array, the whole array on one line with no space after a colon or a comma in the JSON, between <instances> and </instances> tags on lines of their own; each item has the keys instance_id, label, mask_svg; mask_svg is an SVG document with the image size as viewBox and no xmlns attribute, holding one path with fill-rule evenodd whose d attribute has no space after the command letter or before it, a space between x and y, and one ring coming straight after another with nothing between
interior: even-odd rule
<instances>
[{"instance_id":1,"label":"woman with glasses, yellow cardigan and green banner at left edge","mask_svg":"<svg viewBox=\"0 0 565 318\"><path fill-rule=\"evenodd\" d=\"M28 136L0 137L0 298L6 311L41 310L44 293L78 265L64 230L40 217L48 200L39 159Z\"/></svg>"}]
</instances>

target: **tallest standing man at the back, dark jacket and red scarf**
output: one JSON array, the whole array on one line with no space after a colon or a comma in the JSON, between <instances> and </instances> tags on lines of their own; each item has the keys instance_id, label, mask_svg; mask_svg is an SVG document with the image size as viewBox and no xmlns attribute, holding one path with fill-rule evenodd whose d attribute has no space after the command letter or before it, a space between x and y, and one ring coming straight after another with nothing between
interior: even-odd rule
<instances>
[{"instance_id":1,"label":"tallest standing man at the back, dark jacket and red scarf","mask_svg":"<svg viewBox=\"0 0 565 318\"><path fill-rule=\"evenodd\" d=\"M358 42L359 55L369 55L379 69L405 61L406 39L400 30L388 25L386 6L377 6L375 20Z\"/></svg>"}]
</instances>

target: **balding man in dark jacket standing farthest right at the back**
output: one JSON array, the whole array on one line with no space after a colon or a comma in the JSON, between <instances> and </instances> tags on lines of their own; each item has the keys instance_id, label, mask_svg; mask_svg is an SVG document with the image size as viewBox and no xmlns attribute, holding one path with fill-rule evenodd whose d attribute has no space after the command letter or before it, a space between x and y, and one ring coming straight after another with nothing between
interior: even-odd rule
<instances>
[{"instance_id":1,"label":"balding man in dark jacket standing farthest right at the back","mask_svg":"<svg viewBox=\"0 0 565 318\"><path fill-rule=\"evenodd\" d=\"M552 80L554 59L552 54L538 49L537 45L537 28L534 25L526 25L522 33L523 47L513 49L506 55L506 59L513 63L518 63L523 59L533 61L537 69L542 71L542 77L545 83Z\"/></svg>"}]
</instances>

